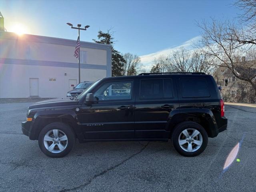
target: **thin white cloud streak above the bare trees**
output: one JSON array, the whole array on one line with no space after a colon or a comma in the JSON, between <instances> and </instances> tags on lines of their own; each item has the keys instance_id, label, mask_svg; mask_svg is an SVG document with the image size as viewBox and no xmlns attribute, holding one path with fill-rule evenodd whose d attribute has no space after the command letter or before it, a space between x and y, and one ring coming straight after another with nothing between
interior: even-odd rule
<instances>
[{"instance_id":1,"label":"thin white cloud streak above the bare trees","mask_svg":"<svg viewBox=\"0 0 256 192\"><path fill-rule=\"evenodd\" d=\"M200 40L201 36L196 36L184 43L182 43L181 45L179 46L174 46L174 47L171 47L171 48L166 48L164 50L160 50L158 52L155 52L155 53L150 53L150 54L147 54L147 55L142 55L140 56L140 59L141 59L141 62L142 64L144 65L144 68L146 70L150 70L150 68L152 67L152 64L153 64L153 60L155 57L157 56L160 56L160 55L168 55L170 54L170 52L174 51L174 50L177 50L181 47L184 47L188 50L192 50L194 49L194 47L192 46L193 43L196 43Z\"/></svg>"}]
</instances>

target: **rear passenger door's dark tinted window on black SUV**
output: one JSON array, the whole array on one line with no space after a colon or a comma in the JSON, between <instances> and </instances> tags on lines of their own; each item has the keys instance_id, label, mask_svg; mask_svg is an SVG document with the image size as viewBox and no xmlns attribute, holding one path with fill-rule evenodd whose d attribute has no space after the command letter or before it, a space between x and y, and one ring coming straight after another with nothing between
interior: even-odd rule
<instances>
[{"instance_id":1,"label":"rear passenger door's dark tinted window on black SUV","mask_svg":"<svg viewBox=\"0 0 256 192\"><path fill-rule=\"evenodd\" d=\"M173 98L171 79L141 80L140 99Z\"/></svg>"}]
</instances>

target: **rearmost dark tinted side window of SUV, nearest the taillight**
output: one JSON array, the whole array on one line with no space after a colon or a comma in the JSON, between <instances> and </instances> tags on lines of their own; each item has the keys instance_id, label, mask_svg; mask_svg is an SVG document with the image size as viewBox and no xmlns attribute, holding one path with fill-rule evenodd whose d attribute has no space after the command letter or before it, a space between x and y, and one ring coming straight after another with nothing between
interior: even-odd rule
<instances>
[{"instance_id":1,"label":"rearmost dark tinted side window of SUV, nearest the taillight","mask_svg":"<svg viewBox=\"0 0 256 192\"><path fill-rule=\"evenodd\" d=\"M181 78L180 88L183 98L210 97L204 78Z\"/></svg>"}]
</instances>

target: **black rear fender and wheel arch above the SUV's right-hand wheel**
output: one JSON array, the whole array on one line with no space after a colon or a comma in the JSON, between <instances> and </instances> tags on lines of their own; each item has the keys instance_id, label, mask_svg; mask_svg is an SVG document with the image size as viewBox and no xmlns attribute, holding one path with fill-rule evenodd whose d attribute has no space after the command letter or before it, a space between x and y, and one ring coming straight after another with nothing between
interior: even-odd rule
<instances>
[{"instance_id":1,"label":"black rear fender and wheel arch above the SUV's right-hand wheel","mask_svg":"<svg viewBox=\"0 0 256 192\"><path fill-rule=\"evenodd\" d=\"M208 133L209 137L216 137L219 133L216 119L211 110L206 108L187 108L178 109L170 112L166 126L173 131L174 127L183 121L199 121Z\"/></svg>"}]
</instances>

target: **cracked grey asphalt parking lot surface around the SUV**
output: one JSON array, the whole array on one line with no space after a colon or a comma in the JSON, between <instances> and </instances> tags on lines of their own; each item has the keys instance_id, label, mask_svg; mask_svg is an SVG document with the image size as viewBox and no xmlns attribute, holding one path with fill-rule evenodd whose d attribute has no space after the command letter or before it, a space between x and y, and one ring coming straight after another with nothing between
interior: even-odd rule
<instances>
[{"instance_id":1,"label":"cracked grey asphalt parking lot surface around the SUV","mask_svg":"<svg viewBox=\"0 0 256 192\"><path fill-rule=\"evenodd\" d=\"M76 142L68 156L49 158L22 135L30 104L0 104L1 192L256 191L256 108L226 105L228 130L193 158L170 142ZM223 172L242 138L240 162Z\"/></svg>"}]
</instances>

